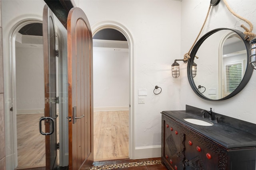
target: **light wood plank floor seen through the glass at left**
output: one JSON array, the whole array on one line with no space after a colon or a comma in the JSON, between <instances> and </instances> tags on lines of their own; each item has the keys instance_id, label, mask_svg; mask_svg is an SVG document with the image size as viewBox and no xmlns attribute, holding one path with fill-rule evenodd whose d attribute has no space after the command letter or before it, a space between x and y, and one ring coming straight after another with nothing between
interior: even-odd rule
<instances>
[{"instance_id":1,"label":"light wood plank floor seen through the glass at left","mask_svg":"<svg viewBox=\"0 0 256 170\"><path fill-rule=\"evenodd\" d=\"M45 166L45 136L39 133L39 119L42 116L44 113L17 115L18 168L16 169Z\"/></svg>"}]
</instances>

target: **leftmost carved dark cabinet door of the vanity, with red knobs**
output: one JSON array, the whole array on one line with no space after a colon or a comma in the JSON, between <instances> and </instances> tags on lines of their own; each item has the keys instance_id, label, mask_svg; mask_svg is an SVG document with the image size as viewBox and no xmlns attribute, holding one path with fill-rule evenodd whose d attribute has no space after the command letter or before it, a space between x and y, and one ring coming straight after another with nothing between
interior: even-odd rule
<instances>
[{"instance_id":1,"label":"leftmost carved dark cabinet door of the vanity, with red knobs","mask_svg":"<svg viewBox=\"0 0 256 170\"><path fill-rule=\"evenodd\" d=\"M184 133L167 120L163 121L162 158L166 166L174 170L184 170ZM170 167L168 167L170 169Z\"/></svg>"}]
</instances>

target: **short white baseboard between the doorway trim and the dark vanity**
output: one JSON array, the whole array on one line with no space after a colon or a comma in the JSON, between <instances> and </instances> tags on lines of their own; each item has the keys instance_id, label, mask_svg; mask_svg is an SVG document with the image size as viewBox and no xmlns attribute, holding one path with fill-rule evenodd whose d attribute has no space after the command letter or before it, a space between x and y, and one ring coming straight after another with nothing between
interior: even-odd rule
<instances>
[{"instance_id":1,"label":"short white baseboard between the doorway trim and the dark vanity","mask_svg":"<svg viewBox=\"0 0 256 170\"><path fill-rule=\"evenodd\" d=\"M161 157L161 145L149 147L135 147L134 159Z\"/></svg>"}]
</instances>

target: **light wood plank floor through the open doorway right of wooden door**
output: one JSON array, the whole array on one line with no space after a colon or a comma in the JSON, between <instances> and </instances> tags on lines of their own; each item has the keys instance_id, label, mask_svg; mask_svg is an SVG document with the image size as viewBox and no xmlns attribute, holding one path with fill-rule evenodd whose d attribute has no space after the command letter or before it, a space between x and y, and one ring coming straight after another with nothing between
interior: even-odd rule
<instances>
[{"instance_id":1,"label":"light wood plank floor through the open doorway right of wooden door","mask_svg":"<svg viewBox=\"0 0 256 170\"><path fill-rule=\"evenodd\" d=\"M95 111L94 161L128 156L129 111Z\"/></svg>"}]
</instances>

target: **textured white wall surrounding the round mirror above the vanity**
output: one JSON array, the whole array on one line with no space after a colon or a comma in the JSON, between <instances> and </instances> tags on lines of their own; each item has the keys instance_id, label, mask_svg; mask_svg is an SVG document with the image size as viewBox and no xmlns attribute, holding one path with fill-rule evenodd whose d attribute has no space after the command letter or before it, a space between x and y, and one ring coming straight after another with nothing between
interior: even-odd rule
<instances>
[{"instance_id":1,"label":"textured white wall surrounding the round mirror above the vanity","mask_svg":"<svg viewBox=\"0 0 256 170\"><path fill-rule=\"evenodd\" d=\"M205 0L182 0L182 49L181 55L188 52L196 36L198 35L202 23L204 22L210 1ZM230 8L240 16L256 24L256 3L255 0L227 0ZM205 25L202 35L216 28L226 27L230 29L244 30L240 27L244 21L233 16L226 8L223 1L218 6L211 9L210 16ZM256 33L254 29L252 31ZM256 123L256 114L254 109L254 98L256 96L256 72L254 71L249 83L236 96L224 101L206 101L199 98L190 88L187 80L186 70L181 72L180 80L174 82L174 89L180 91L180 102L191 106L204 109L212 107L215 112L235 117L252 123ZM182 105L179 109L184 109Z\"/></svg>"}]
</instances>

